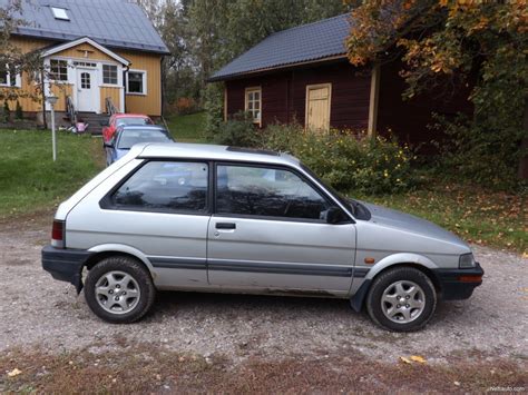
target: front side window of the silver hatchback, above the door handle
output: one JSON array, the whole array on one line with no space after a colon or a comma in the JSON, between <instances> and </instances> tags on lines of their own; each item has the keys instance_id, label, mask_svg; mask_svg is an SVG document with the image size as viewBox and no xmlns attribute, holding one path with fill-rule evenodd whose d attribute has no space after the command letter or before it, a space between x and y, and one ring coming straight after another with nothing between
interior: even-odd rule
<instances>
[{"instance_id":1,"label":"front side window of the silver hatchback, above the door handle","mask_svg":"<svg viewBox=\"0 0 528 395\"><path fill-rule=\"evenodd\" d=\"M323 220L329 203L296 174L276 168L217 166L218 214Z\"/></svg>"}]
</instances>

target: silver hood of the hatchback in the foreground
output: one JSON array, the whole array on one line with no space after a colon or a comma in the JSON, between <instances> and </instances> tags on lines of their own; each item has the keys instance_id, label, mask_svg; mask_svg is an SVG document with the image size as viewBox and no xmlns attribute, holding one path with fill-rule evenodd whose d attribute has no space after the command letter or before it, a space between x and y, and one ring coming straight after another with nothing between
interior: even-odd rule
<instances>
[{"instance_id":1,"label":"silver hood of the hatchback in the foreground","mask_svg":"<svg viewBox=\"0 0 528 395\"><path fill-rule=\"evenodd\" d=\"M415 236L422 241L427 239L429 246L432 246L434 241L440 245L449 244L456 249L463 251L471 251L467 243L460 239L457 235L448 231L440 226L430 223L426 219L414 217L412 215L393 210L383 206L372 205L369 203L361 201L371 213L372 218L370 223L381 226L387 229L405 233L408 237ZM407 237L405 237L407 238ZM398 241L395 241L398 243ZM434 248L436 249L436 248Z\"/></svg>"}]
</instances>

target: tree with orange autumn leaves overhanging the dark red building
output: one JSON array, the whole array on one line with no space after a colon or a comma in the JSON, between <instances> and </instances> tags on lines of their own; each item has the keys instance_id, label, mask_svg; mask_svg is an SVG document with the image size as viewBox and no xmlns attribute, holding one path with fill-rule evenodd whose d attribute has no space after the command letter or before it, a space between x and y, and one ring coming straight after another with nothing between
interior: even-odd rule
<instances>
[{"instance_id":1,"label":"tree with orange autumn leaves overhanging the dark red building","mask_svg":"<svg viewBox=\"0 0 528 395\"><path fill-rule=\"evenodd\" d=\"M451 124L458 168L482 181L512 180L527 110L526 1L364 0L351 12L355 66L400 57L405 98L462 79L472 85L471 119ZM493 164L490 166L489 164Z\"/></svg>"}]
</instances>

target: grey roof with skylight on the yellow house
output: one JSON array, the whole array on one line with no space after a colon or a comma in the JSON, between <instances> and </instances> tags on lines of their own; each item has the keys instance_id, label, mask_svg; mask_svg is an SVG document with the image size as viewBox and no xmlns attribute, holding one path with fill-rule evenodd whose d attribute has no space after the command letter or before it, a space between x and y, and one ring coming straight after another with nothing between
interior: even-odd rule
<instances>
[{"instance_id":1,"label":"grey roof with skylight on the yellow house","mask_svg":"<svg viewBox=\"0 0 528 395\"><path fill-rule=\"evenodd\" d=\"M0 7L10 0L0 0ZM51 8L67 10L69 20L56 19ZM14 34L56 41L89 37L99 45L157 53L168 49L144 10L126 0L22 0L27 24Z\"/></svg>"}]
</instances>

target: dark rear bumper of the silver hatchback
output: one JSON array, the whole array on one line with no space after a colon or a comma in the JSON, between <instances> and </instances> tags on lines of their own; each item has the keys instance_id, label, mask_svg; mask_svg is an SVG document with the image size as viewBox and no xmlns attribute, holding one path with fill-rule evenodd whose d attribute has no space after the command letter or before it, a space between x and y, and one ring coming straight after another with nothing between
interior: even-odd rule
<instances>
[{"instance_id":1,"label":"dark rear bumper of the silver hatchback","mask_svg":"<svg viewBox=\"0 0 528 395\"><path fill-rule=\"evenodd\" d=\"M42 268L55 279L75 285L77 293L82 289L82 265L92 253L84 249L61 249L52 246L42 248Z\"/></svg>"}]
</instances>

